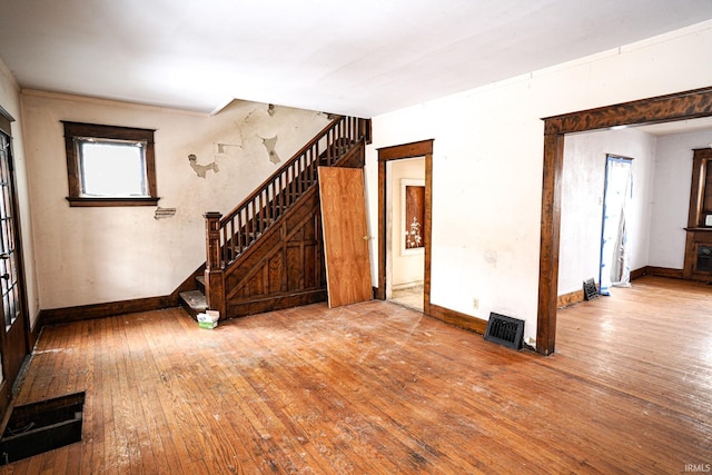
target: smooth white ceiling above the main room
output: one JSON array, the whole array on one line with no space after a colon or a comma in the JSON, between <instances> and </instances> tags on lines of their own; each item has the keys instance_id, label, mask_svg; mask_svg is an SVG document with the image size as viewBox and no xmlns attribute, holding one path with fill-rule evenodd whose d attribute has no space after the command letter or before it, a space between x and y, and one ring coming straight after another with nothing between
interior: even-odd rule
<instances>
[{"instance_id":1,"label":"smooth white ceiling above the main room","mask_svg":"<svg viewBox=\"0 0 712 475\"><path fill-rule=\"evenodd\" d=\"M22 88L373 117L712 19L712 0L2 0Z\"/></svg>"}]
</instances>

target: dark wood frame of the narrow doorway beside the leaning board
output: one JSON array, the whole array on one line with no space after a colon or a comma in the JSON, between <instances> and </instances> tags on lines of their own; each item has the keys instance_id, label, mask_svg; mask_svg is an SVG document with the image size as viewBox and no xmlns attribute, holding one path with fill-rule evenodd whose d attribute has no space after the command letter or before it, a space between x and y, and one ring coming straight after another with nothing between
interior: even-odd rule
<instances>
[{"instance_id":1,"label":"dark wood frame of the narrow doorway beside the leaning board","mask_svg":"<svg viewBox=\"0 0 712 475\"><path fill-rule=\"evenodd\" d=\"M386 164L392 160L425 157L425 270L423 276L423 313L431 315L431 250L433 216L433 140L397 145L378 149L378 287L376 298L386 299L386 186L388 171Z\"/></svg>"}]
</instances>

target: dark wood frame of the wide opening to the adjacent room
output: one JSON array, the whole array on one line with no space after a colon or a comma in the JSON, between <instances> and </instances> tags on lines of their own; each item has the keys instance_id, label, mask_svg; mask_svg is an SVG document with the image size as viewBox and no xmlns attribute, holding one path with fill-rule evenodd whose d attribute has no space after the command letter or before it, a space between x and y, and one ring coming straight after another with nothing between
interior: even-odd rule
<instances>
[{"instance_id":1,"label":"dark wood frame of the wide opening to the adjacent room","mask_svg":"<svg viewBox=\"0 0 712 475\"><path fill-rule=\"evenodd\" d=\"M589 109L544 120L536 352L554 353L564 136L613 126L670 122L712 116L712 87Z\"/></svg>"}]
</instances>

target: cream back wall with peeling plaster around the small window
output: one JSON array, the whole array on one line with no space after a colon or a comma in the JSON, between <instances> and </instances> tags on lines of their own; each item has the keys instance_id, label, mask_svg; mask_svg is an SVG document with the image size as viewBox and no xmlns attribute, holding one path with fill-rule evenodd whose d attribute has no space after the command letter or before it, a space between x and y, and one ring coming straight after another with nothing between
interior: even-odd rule
<instances>
[{"instance_id":1,"label":"cream back wall with peeling plaster around the small window","mask_svg":"<svg viewBox=\"0 0 712 475\"><path fill-rule=\"evenodd\" d=\"M22 108L43 309L170 294L205 263L202 215L229 212L328 123L320 112L246 101L209 116L24 91ZM156 129L158 206L175 215L70 208L60 120Z\"/></svg>"}]
</instances>

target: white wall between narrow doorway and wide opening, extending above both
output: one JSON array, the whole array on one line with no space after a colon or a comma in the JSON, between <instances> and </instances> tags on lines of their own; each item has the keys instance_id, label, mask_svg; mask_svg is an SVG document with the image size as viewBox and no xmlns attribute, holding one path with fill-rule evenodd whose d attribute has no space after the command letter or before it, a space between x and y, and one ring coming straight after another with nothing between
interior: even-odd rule
<instances>
[{"instance_id":1,"label":"white wall between narrow doorway and wide opening, extending above both","mask_svg":"<svg viewBox=\"0 0 712 475\"><path fill-rule=\"evenodd\" d=\"M434 139L431 301L483 319L491 311L522 318L532 342L541 119L709 87L712 61L700 58L710 55L712 21L375 117L367 149L372 229L378 217L377 148ZM375 266L372 273L377 281Z\"/></svg>"}]
</instances>

